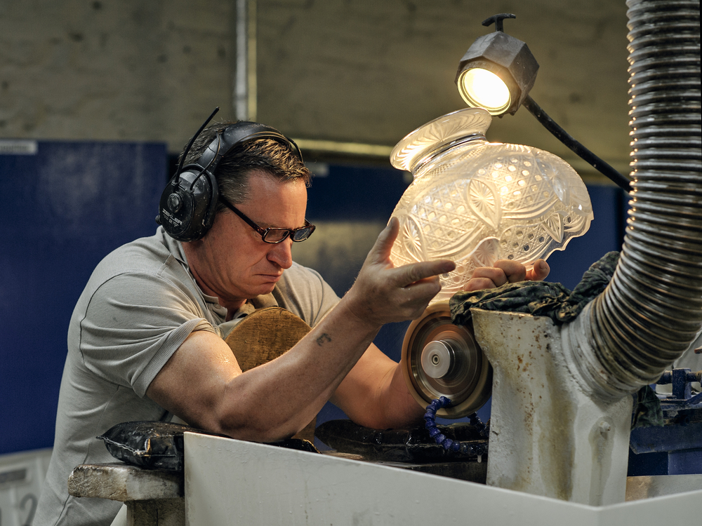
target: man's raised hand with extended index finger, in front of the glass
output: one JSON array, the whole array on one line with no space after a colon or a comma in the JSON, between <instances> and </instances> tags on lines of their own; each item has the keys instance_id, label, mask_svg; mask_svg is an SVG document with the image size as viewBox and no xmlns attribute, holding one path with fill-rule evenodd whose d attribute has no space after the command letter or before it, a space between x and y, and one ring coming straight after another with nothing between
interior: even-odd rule
<instances>
[{"instance_id":1,"label":"man's raised hand with extended index finger, in front of the glass","mask_svg":"<svg viewBox=\"0 0 702 526\"><path fill-rule=\"evenodd\" d=\"M456 268L448 259L395 267L390 260L399 221L392 217L366 257L356 282L344 300L362 321L384 325L422 315L439 290L439 274Z\"/></svg>"}]
</instances>

